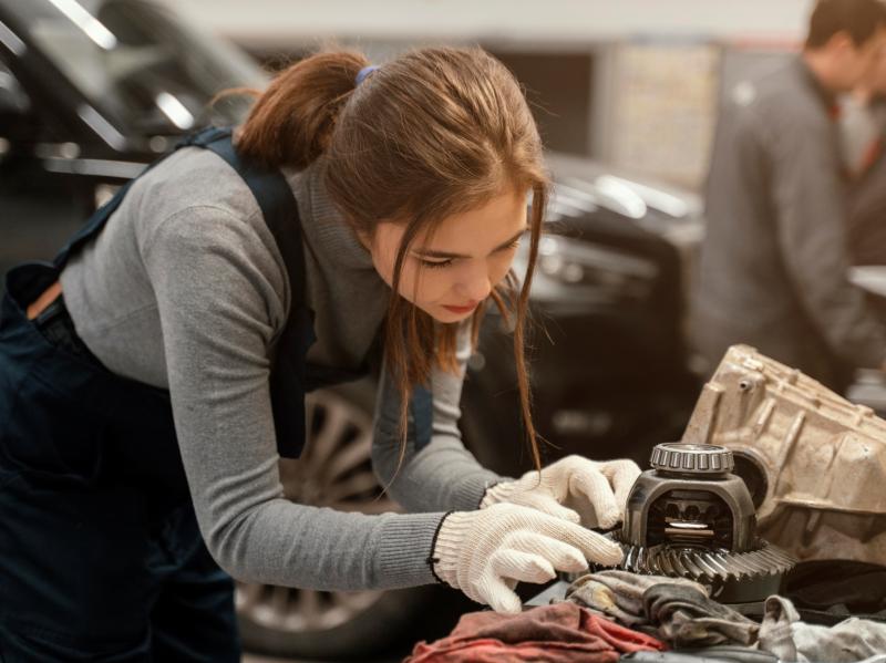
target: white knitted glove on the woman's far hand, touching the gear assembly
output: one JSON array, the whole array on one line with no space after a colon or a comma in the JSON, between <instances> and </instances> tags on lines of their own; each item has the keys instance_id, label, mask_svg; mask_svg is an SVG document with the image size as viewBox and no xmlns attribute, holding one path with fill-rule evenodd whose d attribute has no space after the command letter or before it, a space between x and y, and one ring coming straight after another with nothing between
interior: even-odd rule
<instances>
[{"instance_id":1,"label":"white knitted glove on the woman's far hand, touching the gear assembly","mask_svg":"<svg viewBox=\"0 0 886 663\"><path fill-rule=\"evenodd\" d=\"M483 496L480 508L509 503L532 507L581 522L585 527L608 529L625 517L628 493L640 468L633 460L595 462L566 456L519 479L496 484Z\"/></svg>"}]
</instances>

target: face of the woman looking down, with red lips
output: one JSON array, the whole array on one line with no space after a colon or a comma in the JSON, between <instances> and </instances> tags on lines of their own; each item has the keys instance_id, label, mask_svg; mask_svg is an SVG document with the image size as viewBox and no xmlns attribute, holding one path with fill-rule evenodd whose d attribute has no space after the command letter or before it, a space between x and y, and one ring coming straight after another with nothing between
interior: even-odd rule
<instances>
[{"instance_id":1,"label":"face of the woman looking down, with red lips","mask_svg":"<svg viewBox=\"0 0 886 663\"><path fill-rule=\"evenodd\" d=\"M471 315L507 274L526 230L526 194L507 190L475 209L443 219L432 238L419 232L406 251L400 294L440 322ZM403 224L382 221L372 261L391 286Z\"/></svg>"}]
</instances>

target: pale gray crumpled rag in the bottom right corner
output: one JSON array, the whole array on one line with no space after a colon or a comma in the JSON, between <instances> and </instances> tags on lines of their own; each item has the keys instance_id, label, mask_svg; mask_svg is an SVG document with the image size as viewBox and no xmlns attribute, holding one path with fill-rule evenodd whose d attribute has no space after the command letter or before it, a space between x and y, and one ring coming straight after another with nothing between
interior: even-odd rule
<instances>
[{"instance_id":1,"label":"pale gray crumpled rag in the bottom right corner","mask_svg":"<svg viewBox=\"0 0 886 663\"><path fill-rule=\"evenodd\" d=\"M791 601L770 597L759 646L785 663L854 663L886 652L886 623L849 618L834 626L807 624Z\"/></svg>"}]
</instances>

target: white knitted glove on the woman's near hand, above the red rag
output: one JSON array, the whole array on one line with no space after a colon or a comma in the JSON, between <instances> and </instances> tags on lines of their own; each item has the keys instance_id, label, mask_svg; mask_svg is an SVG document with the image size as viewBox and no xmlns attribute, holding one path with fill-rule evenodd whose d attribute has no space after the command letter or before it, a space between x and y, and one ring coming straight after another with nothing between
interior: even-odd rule
<instances>
[{"instance_id":1,"label":"white knitted glove on the woman's near hand, above the red rag","mask_svg":"<svg viewBox=\"0 0 886 663\"><path fill-rule=\"evenodd\" d=\"M517 505L455 511L440 527L432 555L437 578L499 612L519 612L518 581L545 582L556 571L578 573L590 559L621 561L621 548L563 518Z\"/></svg>"}]
</instances>

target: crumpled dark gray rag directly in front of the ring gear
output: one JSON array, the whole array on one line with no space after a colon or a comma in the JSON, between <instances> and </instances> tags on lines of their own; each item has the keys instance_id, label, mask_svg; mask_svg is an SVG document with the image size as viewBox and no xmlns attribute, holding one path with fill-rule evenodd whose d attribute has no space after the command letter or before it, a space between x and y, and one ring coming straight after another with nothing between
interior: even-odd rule
<instances>
[{"instance_id":1,"label":"crumpled dark gray rag directly in front of the ring gear","mask_svg":"<svg viewBox=\"0 0 886 663\"><path fill-rule=\"evenodd\" d=\"M671 646L751 644L758 624L708 597L698 582L608 570L589 573L566 590L566 600L649 633Z\"/></svg>"}]
</instances>

